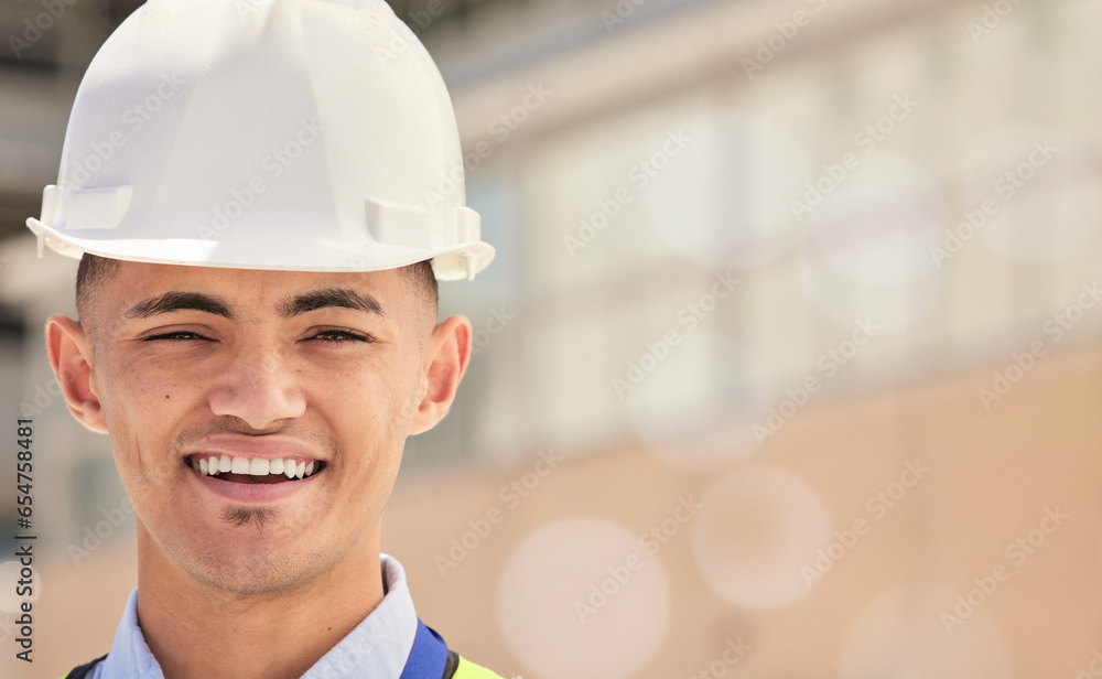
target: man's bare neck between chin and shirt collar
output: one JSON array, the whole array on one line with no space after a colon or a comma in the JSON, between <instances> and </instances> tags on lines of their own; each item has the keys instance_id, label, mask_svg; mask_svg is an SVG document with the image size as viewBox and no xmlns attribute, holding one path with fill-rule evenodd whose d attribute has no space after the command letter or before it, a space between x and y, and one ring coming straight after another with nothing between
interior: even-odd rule
<instances>
[{"instance_id":1,"label":"man's bare neck between chin and shirt collar","mask_svg":"<svg viewBox=\"0 0 1102 679\"><path fill-rule=\"evenodd\" d=\"M137 524L138 619L165 679L295 679L383 597L378 536L301 586L249 595L191 576Z\"/></svg>"}]
</instances>

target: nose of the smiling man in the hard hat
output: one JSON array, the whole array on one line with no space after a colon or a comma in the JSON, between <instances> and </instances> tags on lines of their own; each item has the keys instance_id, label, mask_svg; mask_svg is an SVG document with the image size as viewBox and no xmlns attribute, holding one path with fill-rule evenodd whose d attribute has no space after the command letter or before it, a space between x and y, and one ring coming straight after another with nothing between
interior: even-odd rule
<instances>
[{"instance_id":1,"label":"nose of the smiling man in the hard hat","mask_svg":"<svg viewBox=\"0 0 1102 679\"><path fill-rule=\"evenodd\" d=\"M306 412L305 396L288 358L279 347L260 343L231 355L207 398L215 414L238 418L256 430Z\"/></svg>"}]
</instances>

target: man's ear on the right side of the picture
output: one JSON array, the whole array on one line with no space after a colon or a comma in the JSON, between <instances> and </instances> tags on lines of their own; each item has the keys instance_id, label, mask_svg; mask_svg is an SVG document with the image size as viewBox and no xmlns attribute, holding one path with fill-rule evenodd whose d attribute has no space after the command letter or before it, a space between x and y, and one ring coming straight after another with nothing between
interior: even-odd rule
<instances>
[{"instance_id":1,"label":"man's ear on the right side of the picture","mask_svg":"<svg viewBox=\"0 0 1102 679\"><path fill-rule=\"evenodd\" d=\"M452 316L425 337L423 369L425 389L410 422L410 434L429 431L444 419L471 359L471 321Z\"/></svg>"}]
</instances>

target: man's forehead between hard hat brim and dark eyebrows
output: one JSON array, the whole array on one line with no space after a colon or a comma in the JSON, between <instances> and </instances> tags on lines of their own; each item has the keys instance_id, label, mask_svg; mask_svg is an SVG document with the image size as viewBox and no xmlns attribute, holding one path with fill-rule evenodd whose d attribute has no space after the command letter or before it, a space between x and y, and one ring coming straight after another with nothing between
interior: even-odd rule
<instances>
[{"instance_id":1,"label":"man's forehead between hard hat brim and dark eyebrows","mask_svg":"<svg viewBox=\"0 0 1102 679\"><path fill-rule=\"evenodd\" d=\"M413 314L409 285L398 270L367 272L268 271L120 261L99 289L107 319L126 321L136 305L168 293L216 298L235 312L274 314L303 295L345 290L379 303L387 316ZM285 315L285 314L284 314Z\"/></svg>"}]
</instances>

